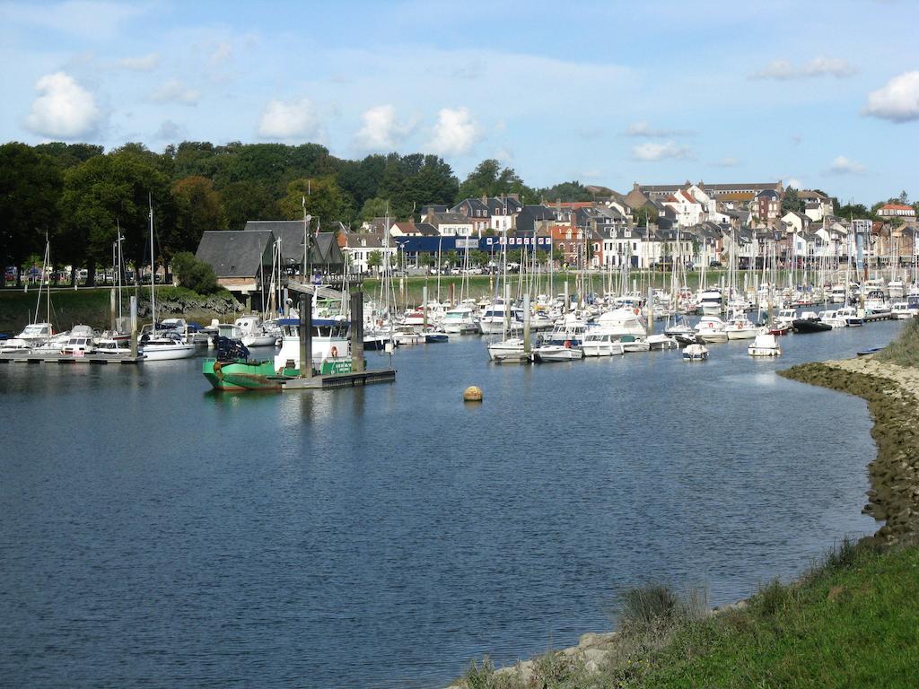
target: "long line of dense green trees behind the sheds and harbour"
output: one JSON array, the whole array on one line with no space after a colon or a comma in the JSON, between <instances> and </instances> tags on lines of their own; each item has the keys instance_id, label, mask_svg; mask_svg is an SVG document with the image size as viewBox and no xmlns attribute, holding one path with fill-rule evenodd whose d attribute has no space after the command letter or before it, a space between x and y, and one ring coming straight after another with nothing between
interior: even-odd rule
<instances>
[{"instance_id":1,"label":"long line of dense green trees behind the sheds and harbour","mask_svg":"<svg viewBox=\"0 0 919 689\"><path fill-rule=\"evenodd\" d=\"M387 213L417 217L423 205L512 193L525 203L591 198L578 182L527 186L491 159L460 182L436 155L346 160L315 143L183 141L158 153L142 143L105 152L88 143L9 142L0 146L0 265L41 254L46 236L55 264L85 267L89 284L96 266L111 265L119 236L126 263L149 265L151 207L154 259L167 264L194 252L203 232L242 230L247 220L298 220L305 210L321 228L353 227Z\"/></svg>"}]
</instances>

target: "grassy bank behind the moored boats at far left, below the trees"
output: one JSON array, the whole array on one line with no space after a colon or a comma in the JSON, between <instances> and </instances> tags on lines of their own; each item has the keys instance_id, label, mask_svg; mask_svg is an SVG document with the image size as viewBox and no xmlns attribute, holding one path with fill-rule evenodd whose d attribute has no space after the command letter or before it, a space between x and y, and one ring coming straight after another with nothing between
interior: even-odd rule
<instances>
[{"instance_id":1,"label":"grassy bank behind the moored boats at far left, below the trees","mask_svg":"<svg viewBox=\"0 0 919 689\"><path fill-rule=\"evenodd\" d=\"M110 288L60 289L51 291L51 322L60 330L69 330L77 323L94 328L108 328ZM130 310L130 290L122 293L125 313ZM140 314L149 313L150 293L140 291ZM0 333L15 334L35 319L38 292L29 289L0 290ZM235 299L229 292L205 297L188 289L163 286L156 288L157 318L181 316L189 321L208 323L213 318L225 320L233 314ZM45 297L42 295L39 321L46 317Z\"/></svg>"}]
</instances>

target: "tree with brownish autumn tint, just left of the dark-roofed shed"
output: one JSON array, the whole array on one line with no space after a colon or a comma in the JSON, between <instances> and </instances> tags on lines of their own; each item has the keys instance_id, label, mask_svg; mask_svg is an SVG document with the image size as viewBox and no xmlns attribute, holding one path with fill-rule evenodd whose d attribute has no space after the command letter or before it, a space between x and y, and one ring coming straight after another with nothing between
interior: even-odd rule
<instances>
[{"instance_id":1,"label":"tree with brownish autumn tint, just left of the dark-roofed shed","mask_svg":"<svg viewBox=\"0 0 919 689\"><path fill-rule=\"evenodd\" d=\"M195 251L201 235L208 230L226 230L227 219L220 195L210 179L186 177L173 183L176 223L165 232L163 253L166 260L182 251Z\"/></svg>"}]
</instances>

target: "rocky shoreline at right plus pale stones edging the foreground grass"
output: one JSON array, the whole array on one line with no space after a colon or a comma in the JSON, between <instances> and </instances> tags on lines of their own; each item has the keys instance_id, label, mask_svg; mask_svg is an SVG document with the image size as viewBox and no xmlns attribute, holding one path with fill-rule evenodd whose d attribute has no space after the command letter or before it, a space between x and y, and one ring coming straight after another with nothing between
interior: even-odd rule
<instances>
[{"instance_id":1,"label":"rocky shoreline at right plus pale stones edging the foreground grass","mask_svg":"<svg viewBox=\"0 0 919 689\"><path fill-rule=\"evenodd\" d=\"M862 540L892 546L919 534L919 368L877 361L873 356L801 364L779 371L784 378L857 395L868 402L874 421L871 436L878 455L868 463L868 504L862 509L879 522L878 531ZM745 601L710 611L720 615L742 610ZM553 651L596 672L607 658L618 653L618 632L587 633L578 645ZM495 671L527 686L539 658L519 661ZM463 682L448 689L462 689Z\"/></svg>"}]
</instances>

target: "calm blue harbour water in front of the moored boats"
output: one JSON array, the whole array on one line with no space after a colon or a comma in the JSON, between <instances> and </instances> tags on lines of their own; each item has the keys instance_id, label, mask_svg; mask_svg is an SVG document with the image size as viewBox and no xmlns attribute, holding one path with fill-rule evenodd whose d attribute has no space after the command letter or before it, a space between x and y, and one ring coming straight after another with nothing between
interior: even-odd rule
<instances>
[{"instance_id":1,"label":"calm blue harbour water in front of the moored boats","mask_svg":"<svg viewBox=\"0 0 919 689\"><path fill-rule=\"evenodd\" d=\"M0 684L436 687L609 628L636 582L738 599L875 528L865 403L774 371L899 329L703 364L500 367L463 338L303 393L2 365Z\"/></svg>"}]
</instances>

